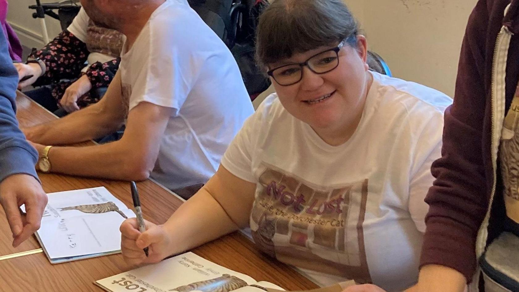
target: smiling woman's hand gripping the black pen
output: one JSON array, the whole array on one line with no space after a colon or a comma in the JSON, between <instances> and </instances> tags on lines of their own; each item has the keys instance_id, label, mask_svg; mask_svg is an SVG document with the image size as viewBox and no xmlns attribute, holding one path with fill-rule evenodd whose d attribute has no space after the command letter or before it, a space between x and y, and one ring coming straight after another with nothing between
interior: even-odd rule
<instances>
[{"instance_id":1,"label":"smiling woman's hand gripping the black pen","mask_svg":"<svg viewBox=\"0 0 519 292\"><path fill-rule=\"evenodd\" d=\"M121 251L125 261L131 266L156 263L171 255L170 235L162 225L156 225L144 220L146 231L141 233L136 218L129 218L122 222ZM149 248L146 257L143 248Z\"/></svg>"}]
</instances>

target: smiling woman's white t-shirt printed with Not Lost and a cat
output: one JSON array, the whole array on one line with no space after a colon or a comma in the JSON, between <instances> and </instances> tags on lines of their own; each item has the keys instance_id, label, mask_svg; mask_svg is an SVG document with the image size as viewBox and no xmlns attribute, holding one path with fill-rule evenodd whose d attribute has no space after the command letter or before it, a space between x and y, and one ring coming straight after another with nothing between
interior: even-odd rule
<instances>
[{"instance_id":1,"label":"smiling woman's white t-shirt printed with Not Lost and a cat","mask_svg":"<svg viewBox=\"0 0 519 292\"><path fill-rule=\"evenodd\" d=\"M327 144L272 94L222 165L257 184L250 227L262 251L323 286L354 279L400 291L417 281L424 197L452 99L372 75L361 121L346 143Z\"/></svg>"}]
</instances>

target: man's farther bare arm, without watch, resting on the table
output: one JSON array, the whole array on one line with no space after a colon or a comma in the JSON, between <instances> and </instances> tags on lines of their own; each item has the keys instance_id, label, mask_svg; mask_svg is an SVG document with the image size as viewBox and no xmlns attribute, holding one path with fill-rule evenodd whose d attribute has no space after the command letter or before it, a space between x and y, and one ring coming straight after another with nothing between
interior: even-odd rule
<instances>
[{"instance_id":1,"label":"man's farther bare arm, without watch, resting on the table","mask_svg":"<svg viewBox=\"0 0 519 292\"><path fill-rule=\"evenodd\" d=\"M103 137L118 130L125 118L121 78L117 72L104 97L59 120L22 129L27 139L44 145L66 145Z\"/></svg>"}]
</instances>

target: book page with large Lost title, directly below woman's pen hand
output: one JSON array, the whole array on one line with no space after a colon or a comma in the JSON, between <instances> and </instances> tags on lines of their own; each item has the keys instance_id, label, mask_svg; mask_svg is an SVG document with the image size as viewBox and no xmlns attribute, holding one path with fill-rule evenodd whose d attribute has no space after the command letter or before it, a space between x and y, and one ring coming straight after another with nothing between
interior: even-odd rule
<instances>
[{"instance_id":1,"label":"book page with large Lost title, directly below woman's pen hand","mask_svg":"<svg viewBox=\"0 0 519 292\"><path fill-rule=\"evenodd\" d=\"M258 285L250 276L229 270L190 252L95 283L110 292L229 292L242 288L252 288L249 290L251 292L262 291L260 288L250 287ZM274 284L269 285L281 289Z\"/></svg>"}]
</instances>

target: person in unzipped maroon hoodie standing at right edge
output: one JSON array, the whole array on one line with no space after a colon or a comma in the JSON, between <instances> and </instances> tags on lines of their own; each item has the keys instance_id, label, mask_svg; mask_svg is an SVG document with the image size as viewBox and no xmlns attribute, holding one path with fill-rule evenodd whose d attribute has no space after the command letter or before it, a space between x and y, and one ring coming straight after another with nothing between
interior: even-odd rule
<instances>
[{"instance_id":1,"label":"person in unzipped maroon hoodie standing at right edge","mask_svg":"<svg viewBox=\"0 0 519 292\"><path fill-rule=\"evenodd\" d=\"M442 157L431 168L436 180L426 197L419 280L408 291L463 291L466 283L470 291L498 291L476 262L498 236L519 236L518 56L519 0L479 0L463 39L454 103L445 112ZM519 257L507 256L503 266L519 267ZM515 290L496 282L499 291Z\"/></svg>"}]
</instances>

